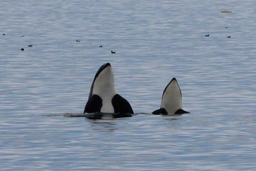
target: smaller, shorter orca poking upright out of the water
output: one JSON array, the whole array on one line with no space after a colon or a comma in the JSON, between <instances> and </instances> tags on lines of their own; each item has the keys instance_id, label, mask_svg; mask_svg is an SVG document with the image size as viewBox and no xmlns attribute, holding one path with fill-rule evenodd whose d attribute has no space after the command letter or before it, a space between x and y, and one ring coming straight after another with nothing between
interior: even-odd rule
<instances>
[{"instance_id":1,"label":"smaller, shorter orca poking upright out of the water","mask_svg":"<svg viewBox=\"0 0 256 171\"><path fill-rule=\"evenodd\" d=\"M154 115L180 115L189 114L189 112L182 109L181 105L181 91L176 78L172 78L169 84L166 85L162 96L161 107L152 114Z\"/></svg>"}]
</instances>

